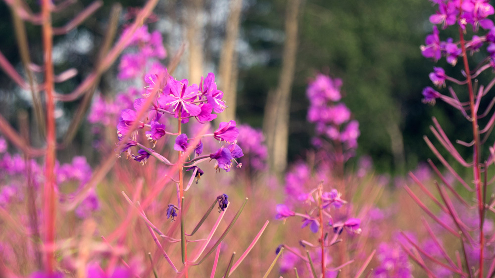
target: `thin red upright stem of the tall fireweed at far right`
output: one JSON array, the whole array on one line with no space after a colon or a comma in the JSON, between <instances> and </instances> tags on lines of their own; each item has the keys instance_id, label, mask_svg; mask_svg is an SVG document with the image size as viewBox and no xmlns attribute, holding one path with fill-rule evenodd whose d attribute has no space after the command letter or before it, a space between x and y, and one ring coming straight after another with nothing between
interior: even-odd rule
<instances>
[{"instance_id":1,"label":"thin red upright stem of the tall fireweed at far right","mask_svg":"<svg viewBox=\"0 0 495 278\"><path fill-rule=\"evenodd\" d=\"M462 6L462 0L460 0L460 6ZM462 9L460 9L460 13L462 13ZM475 101L474 101L474 92L473 92L473 84L471 80L471 74L469 71L469 64L467 61L467 53L466 46L464 42L464 33L462 28L459 26L459 39L462 50L462 59L464 62L464 71L466 72L467 85L469 91L469 107L471 110L471 123L473 126L473 140L474 140L474 153L473 153L473 172L474 172L474 183L476 187L476 196L478 198L478 211L480 215L480 269L479 274L480 277L483 276L483 249L484 249L484 235L483 235L483 220L484 220L484 205L482 197L482 184L481 184L481 174L480 174L480 138L478 131L478 115L476 114L475 109Z\"/></svg>"}]
</instances>

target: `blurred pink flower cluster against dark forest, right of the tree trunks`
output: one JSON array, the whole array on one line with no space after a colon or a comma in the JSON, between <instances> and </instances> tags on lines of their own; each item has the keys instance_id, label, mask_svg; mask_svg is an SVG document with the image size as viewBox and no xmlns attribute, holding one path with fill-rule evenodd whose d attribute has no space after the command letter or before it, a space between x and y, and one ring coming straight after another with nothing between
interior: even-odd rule
<instances>
[{"instance_id":1,"label":"blurred pink flower cluster against dark forest, right of the tree trunks","mask_svg":"<svg viewBox=\"0 0 495 278\"><path fill-rule=\"evenodd\" d=\"M325 139L334 145L342 145L344 160L353 156L360 135L359 123L351 120L349 108L341 100L342 80L318 74L307 89L309 99L307 119L316 124L318 138L313 139L316 147L328 148Z\"/></svg>"}]
</instances>

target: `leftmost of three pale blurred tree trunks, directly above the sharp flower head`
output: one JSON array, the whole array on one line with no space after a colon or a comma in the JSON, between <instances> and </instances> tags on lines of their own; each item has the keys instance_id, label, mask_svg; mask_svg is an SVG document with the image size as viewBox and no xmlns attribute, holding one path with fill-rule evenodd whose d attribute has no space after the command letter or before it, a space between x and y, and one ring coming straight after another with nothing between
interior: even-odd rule
<instances>
[{"instance_id":1,"label":"leftmost of three pale blurred tree trunks, directly above the sharp flower head","mask_svg":"<svg viewBox=\"0 0 495 278\"><path fill-rule=\"evenodd\" d=\"M203 74L203 40L201 11L203 0L188 0L186 2L186 33L189 50L189 81L199 84Z\"/></svg>"}]
</instances>

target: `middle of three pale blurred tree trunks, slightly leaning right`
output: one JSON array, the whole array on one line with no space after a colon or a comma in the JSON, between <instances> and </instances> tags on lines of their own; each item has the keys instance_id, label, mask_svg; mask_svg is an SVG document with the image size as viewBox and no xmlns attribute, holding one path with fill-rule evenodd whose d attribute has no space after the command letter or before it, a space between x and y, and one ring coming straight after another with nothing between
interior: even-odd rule
<instances>
[{"instance_id":1,"label":"middle of three pale blurred tree trunks, slightly leaning right","mask_svg":"<svg viewBox=\"0 0 495 278\"><path fill-rule=\"evenodd\" d=\"M236 118L237 99L237 52L236 41L239 35L242 0L233 0L230 4L230 14L225 25L225 40L222 46L219 65L219 90L223 91L223 100L229 106L218 115L219 122L227 122Z\"/></svg>"}]
</instances>

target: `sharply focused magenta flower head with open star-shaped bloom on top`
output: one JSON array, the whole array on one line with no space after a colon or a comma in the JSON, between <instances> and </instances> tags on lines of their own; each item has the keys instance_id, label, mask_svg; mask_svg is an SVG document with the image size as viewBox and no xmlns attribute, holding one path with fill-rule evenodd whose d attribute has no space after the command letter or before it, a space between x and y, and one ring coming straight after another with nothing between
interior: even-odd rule
<instances>
[{"instance_id":1,"label":"sharply focused magenta flower head with open star-shaped bloom on top","mask_svg":"<svg viewBox=\"0 0 495 278\"><path fill-rule=\"evenodd\" d=\"M151 148L136 142L137 130L146 129L146 137L154 147L156 142L165 135L177 136L175 139L174 149L181 152L187 152L192 148L194 159L185 162L186 166L196 166L200 161L215 159L215 169L223 169L230 171L232 168L232 160L242 157L243 151L237 145L237 137L239 129L236 127L235 121L220 123L217 130L211 134L202 134L195 137L189 137L187 134L177 134L167 131L163 115L179 119L181 124L188 123L191 119L195 119L198 123L205 124L214 120L217 115L222 112L226 105L222 100L223 93L217 90L215 84L215 76L209 73L206 78L201 78L199 85L189 84L187 79L176 80L170 76L167 71L159 73L147 74L145 81L148 83L147 94L157 90L157 97L153 101L153 105L147 108L148 114L144 121L137 118L138 111L143 107L147 98L137 98L134 100L134 109L122 110L117 124L117 134L119 140L122 140L129 132L132 132L131 140L126 141L121 148L121 152L127 152L128 156L141 164L146 163L150 155L161 159L165 164L169 164L168 159L161 157ZM137 123L135 129L132 125ZM201 155L203 151L203 143L201 138L213 137L221 143L221 147L209 155ZM191 145L192 141L196 144ZM137 155L132 154L130 147L140 146L141 150ZM238 164L241 167L241 164Z\"/></svg>"}]
</instances>

